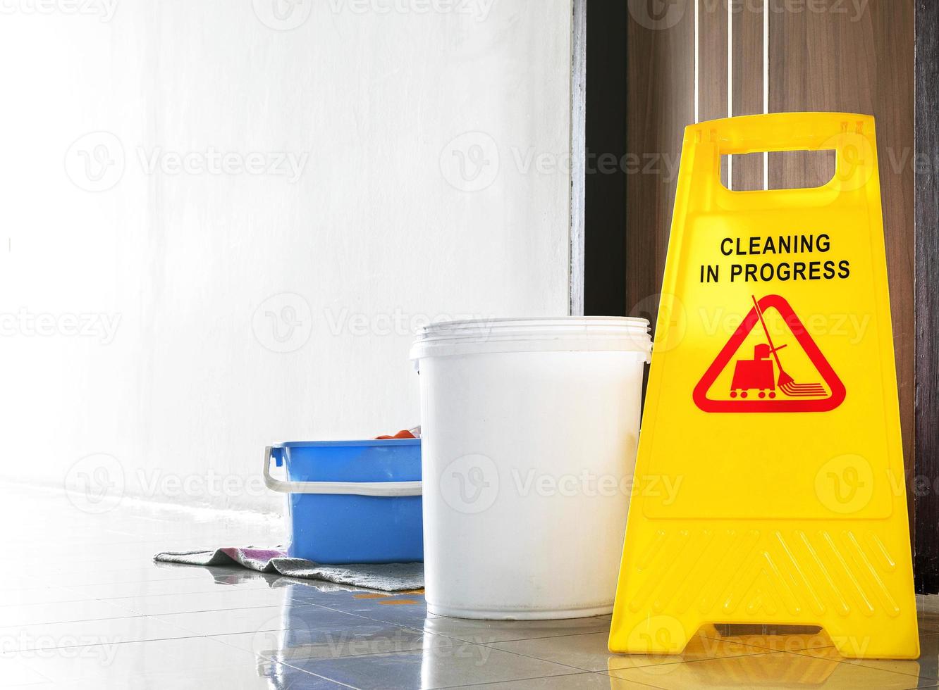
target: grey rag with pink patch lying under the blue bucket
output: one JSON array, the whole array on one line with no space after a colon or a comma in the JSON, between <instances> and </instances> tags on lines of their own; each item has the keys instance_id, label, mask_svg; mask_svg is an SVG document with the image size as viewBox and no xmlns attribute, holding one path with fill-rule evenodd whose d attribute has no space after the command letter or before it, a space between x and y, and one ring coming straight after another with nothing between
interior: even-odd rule
<instances>
[{"instance_id":1,"label":"grey rag with pink patch lying under the blue bucket","mask_svg":"<svg viewBox=\"0 0 939 690\"><path fill-rule=\"evenodd\" d=\"M208 551L164 551L153 558L189 565L240 565L260 573L305 577L378 592L423 589L423 563L354 563L324 565L290 558L273 548L226 547Z\"/></svg>"}]
</instances>

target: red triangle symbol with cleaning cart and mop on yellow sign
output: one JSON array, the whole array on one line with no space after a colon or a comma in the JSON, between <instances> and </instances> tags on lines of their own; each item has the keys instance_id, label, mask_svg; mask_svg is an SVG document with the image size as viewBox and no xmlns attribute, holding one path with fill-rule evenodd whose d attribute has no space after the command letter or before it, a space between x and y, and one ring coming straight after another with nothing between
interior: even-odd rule
<instances>
[{"instance_id":1,"label":"red triangle symbol with cleaning cart and mop on yellow sign","mask_svg":"<svg viewBox=\"0 0 939 690\"><path fill-rule=\"evenodd\" d=\"M769 309L777 312L786 326L784 330L792 333L793 338L780 339L777 335L774 342L767 326ZM754 329L758 330L753 351L735 356ZM785 352L791 345L798 347ZM799 348L804 355L798 355ZM787 358L793 355L807 358L808 368L814 368L812 373L817 372L817 376L797 383L784 368ZM844 384L838 374L793 308L777 294L768 294L759 301L753 298L753 308L694 390L695 404L706 413L824 413L837 408L844 396Z\"/></svg>"}]
</instances>

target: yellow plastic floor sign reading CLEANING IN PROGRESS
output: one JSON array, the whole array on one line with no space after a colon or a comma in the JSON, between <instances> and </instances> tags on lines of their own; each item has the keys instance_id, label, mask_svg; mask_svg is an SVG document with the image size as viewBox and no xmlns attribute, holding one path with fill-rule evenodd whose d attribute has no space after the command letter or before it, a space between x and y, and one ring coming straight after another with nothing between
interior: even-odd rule
<instances>
[{"instance_id":1,"label":"yellow plastic floor sign reading CLEANING IN PROGRESS","mask_svg":"<svg viewBox=\"0 0 939 690\"><path fill-rule=\"evenodd\" d=\"M723 155L834 150L820 188L730 191ZM873 118L685 130L609 649L708 623L919 654Z\"/></svg>"}]
</instances>

